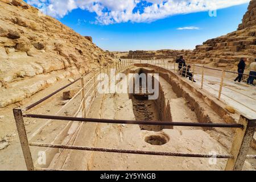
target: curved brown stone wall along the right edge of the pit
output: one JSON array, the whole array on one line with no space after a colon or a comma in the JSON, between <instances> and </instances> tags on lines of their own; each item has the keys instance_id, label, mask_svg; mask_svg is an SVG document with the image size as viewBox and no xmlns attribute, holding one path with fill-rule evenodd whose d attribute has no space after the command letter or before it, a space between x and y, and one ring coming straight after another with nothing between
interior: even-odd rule
<instances>
[{"instance_id":1,"label":"curved brown stone wall along the right edge of the pit","mask_svg":"<svg viewBox=\"0 0 256 182\"><path fill-rule=\"evenodd\" d=\"M204 90L200 90L198 86L184 81L174 72L150 64L135 64L135 66L153 68L155 73L159 73L160 77L163 77L169 84L172 85L172 89L177 94L177 97L183 97L188 101L191 109L195 111L199 122L212 122L210 121L209 115L205 111L204 107L200 105L200 102L203 101L226 123L237 123L239 116L237 114L230 114L227 110L225 110L225 104L223 102L218 101L217 98L214 98L213 96L210 96L210 94L204 92ZM195 94L196 97L191 93ZM201 101L199 98L201 98Z\"/></svg>"}]
</instances>

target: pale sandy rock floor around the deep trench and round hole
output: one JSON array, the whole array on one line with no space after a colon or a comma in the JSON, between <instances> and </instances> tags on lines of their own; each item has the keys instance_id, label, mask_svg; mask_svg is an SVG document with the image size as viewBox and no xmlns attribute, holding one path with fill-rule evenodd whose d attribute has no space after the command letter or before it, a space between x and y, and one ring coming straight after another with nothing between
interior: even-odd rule
<instances>
[{"instance_id":1,"label":"pale sandy rock floor around the deep trench and round hole","mask_svg":"<svg viewBox=\"0 0 256 182\"><path fill-rule=\"evenodd\" d=\"M160 77L159 80L163 85L166 99L171 100L173 119L197 122L196 114L189 109L185 100L177 98L171 86L163 78ZM151 102L143 102L152 106ZM140 102L129 100L127 94L101 95L94 102L89 116L106 119L141 119L143 115L134 112L135 103ZM156 115L155 113L154 119L157 119ZM167 143L162 146L147 143L146 139L155 135L166 138ZM138 125L86 123L77 134L74 144L128 150L206 152L207 154L216 151L218 154L228 154L228 150L214 136L201 128L192 127L148 131L142 130ZM216 164L210 164L209 159L69 151L68 154L53 161L51 167L69 170L222 170L225 163L225 159L217 159ZM245 169L253 169L253 167L246 162Z\"/></svg>"}]
</instances>

